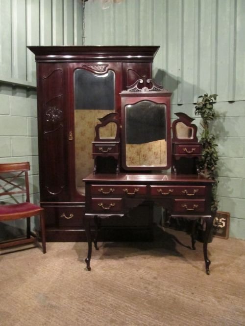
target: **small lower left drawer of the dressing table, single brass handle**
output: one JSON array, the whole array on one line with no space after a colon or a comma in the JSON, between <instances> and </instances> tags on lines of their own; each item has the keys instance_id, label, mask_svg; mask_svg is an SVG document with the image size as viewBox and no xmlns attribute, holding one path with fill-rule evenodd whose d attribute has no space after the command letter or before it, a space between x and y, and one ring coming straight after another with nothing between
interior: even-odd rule
<instances>
[{"instance_id":1,"label":"small lower left drawer of the dressing table, single brass handle","mask_svg":"<svg viewBox=\"0 0 245 326\"><path fill-rule=\"evenodd\" d=\"M92 198L91 207L94 212L120 212L123 207L122 201L122 198Z\"/></svg>"}]
</instances>

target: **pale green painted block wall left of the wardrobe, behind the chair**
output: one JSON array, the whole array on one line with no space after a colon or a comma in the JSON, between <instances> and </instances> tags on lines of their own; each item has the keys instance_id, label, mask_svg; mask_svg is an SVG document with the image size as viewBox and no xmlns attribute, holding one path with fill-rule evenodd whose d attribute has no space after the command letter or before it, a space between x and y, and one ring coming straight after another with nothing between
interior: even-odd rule
<instances>
[{"instance_id":1,"label":"pale green painted block wall left of the wardrobe, behind the chair","mask_svg":"<svg viewBox=\"0 0 245 326\"><path fill-rule=\"evenodd\" d=\"M0 163L30 162L30 199L39 203L37 104L36 99L0 94ZM0 240L21 235L25 222L1 223ZM38 219L32 219L32 227Z\"/></svg>"}]
</instances>

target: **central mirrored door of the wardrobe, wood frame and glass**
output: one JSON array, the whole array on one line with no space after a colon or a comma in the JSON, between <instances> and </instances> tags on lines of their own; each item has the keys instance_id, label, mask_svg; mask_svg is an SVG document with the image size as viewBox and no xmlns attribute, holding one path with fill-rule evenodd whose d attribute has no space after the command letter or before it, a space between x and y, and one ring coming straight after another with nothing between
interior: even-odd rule
<instances>
[{"instance_id":1,"label":"central mirrored door of the wardrobe, wood frame and glass","mask_svg":"<svg viewBox=\"0 0 245 326\"><path fill-rule=\"evenodd\" d=\"M82 181L94 170L92 142L100 118L120 108L122 88L121 63L70 64L70 119L73 121L74 141L71 143L70 166L73 166L73 200L84 196ZM111 125L103 136L112 137ZM106 171L106 170L105 170ZM76 195L75 195L76 193Z\"/></svg>"}]
</instances>

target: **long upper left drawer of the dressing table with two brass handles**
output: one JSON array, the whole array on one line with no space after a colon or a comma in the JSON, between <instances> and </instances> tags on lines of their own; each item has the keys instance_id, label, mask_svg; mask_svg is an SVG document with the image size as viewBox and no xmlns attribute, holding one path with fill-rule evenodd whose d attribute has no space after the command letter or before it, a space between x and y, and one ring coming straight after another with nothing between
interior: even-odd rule
<instances>
[{"instance_id":1,"label":"long upper left drawer of the dressing table with two brass handles","mask_svg":"<svg viewBox=\"0 0 245 326\"><path fill-rule=\"evenodd\" d=\"M138 185L92 185L91 186L92 195L98 196L112 196L112 195L125 195L125 196L137 196L146 195L147 186Z\"/></svg>"}]
</instances>

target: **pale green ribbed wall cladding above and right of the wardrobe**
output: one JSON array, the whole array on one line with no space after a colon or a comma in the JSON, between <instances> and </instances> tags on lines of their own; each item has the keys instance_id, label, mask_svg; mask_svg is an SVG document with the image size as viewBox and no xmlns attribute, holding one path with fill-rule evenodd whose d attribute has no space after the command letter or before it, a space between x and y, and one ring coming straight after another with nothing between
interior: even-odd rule
<instances>
[{"instance_id":1,"label":"pale green ribbed wall cladding above and right of the wardrobe","mask_svg":"<svg viewBox=\"0 0 245 326\"><path fill-rule=\"evenodd\" d=\"M105 9L89 0L85 44L160 45L154 74L173 103L196 102L205 91L244 100L244 18L244 0L111 0Z\"/></svg>"}]
</instances>

